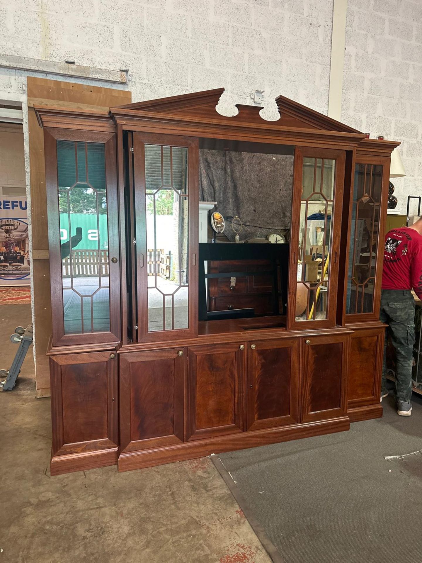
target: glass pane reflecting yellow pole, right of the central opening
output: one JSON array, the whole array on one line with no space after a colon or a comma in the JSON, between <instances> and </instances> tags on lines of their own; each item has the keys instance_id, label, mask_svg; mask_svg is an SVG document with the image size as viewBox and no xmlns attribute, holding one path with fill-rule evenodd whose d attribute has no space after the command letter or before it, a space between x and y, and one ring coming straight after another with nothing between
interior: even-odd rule
<instances>
[{"instance_id":1,"label":"glass pane reflecting yellow pole, right of the central opening","mask_svg":"<svg viewBox=\"0 0 422 563\"><path fill-rule=\"evenodd\" d=\"M303 158L297 321L327 319L336 160Z\"/></svg>"}]
</instances>

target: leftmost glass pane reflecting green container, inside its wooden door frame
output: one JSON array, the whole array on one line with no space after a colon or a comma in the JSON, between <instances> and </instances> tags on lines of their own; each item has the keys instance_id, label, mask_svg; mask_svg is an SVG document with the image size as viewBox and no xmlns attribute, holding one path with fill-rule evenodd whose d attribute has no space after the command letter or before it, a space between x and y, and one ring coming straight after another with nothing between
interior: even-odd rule
<instances>
[{"instance_id":1,"label":"leftmost glass pane reflecting green container, inside its wooden door frame","mask_svg":"<svg viewBox=\"0 0 422 563\"><path fill-rule=\"evenodd\" d=\"M64 333L110 330L105 145L57 140Z\"/></svg>"}]
</instances>

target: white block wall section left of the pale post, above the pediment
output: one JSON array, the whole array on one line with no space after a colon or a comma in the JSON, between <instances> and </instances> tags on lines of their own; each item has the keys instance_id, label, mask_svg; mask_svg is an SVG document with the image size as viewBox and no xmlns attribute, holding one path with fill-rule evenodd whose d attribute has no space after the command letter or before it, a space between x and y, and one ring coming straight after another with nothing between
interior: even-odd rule
<instances>
[{"instance_id":1,"label":"white block wall section left of the pale post, above the pediment","mask_svg":"<svg viewBox=\"0 0 422 563\"><path fill-rule=\"evenodd\" d=\"M129 68L133 101L226 87L327 110L333 0L0 0L0 52Z\"/></svg>"}]
</instances>

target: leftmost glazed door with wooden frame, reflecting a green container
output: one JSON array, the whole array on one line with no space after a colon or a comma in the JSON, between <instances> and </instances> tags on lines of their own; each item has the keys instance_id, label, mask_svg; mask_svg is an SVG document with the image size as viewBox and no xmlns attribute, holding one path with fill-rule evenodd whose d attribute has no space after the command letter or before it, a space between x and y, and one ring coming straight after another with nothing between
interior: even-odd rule
<instances>
[{"instance_id":1,"label":"leftmost glazed door with wooden frame, reflecting a green container","mask_svg":"<svg viewBox=\"0 0 422 563\"><path fill-rule=\"evenodd\" d=\"M46 128L53 345L120 341L114 133Z\"/></svg>"}]
</instances>

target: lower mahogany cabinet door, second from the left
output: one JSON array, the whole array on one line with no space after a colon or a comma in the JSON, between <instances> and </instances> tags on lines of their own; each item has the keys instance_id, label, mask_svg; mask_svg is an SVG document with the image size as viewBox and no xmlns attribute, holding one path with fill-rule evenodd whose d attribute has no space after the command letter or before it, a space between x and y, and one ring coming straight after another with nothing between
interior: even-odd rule
<instances>
[{"instance_id":1,"label":"lower mahogany cabinet door, second from the left","mask_svg":"<svg viewBox=\"0 0 422 563\"><path fill-rule=\"evenodd\" d=\"M120 451L183 442L183 348L128 352L120 361Z\"/></svg>"}]
</instances>

